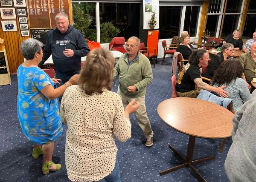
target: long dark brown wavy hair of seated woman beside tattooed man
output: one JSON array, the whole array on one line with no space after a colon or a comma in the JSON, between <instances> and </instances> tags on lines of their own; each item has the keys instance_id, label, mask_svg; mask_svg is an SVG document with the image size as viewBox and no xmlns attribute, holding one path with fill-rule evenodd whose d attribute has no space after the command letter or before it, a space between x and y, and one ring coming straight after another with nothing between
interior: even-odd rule
<instances>
[{"instance_id":1,"label":"long dark brown wavy hair of seated woman beside tattooed man","mask_svg":"<svg viewBox=\"0 0 256 182\"><path fill-rule=\"evenodd\" d=\"M243 68L239 60L236 58L229 58L221 63L221 65L214 72L210 84L216 84L218 87L224 83L228 85L232 80L241 78L242 74Z\"/></svg>"}]
</instances>

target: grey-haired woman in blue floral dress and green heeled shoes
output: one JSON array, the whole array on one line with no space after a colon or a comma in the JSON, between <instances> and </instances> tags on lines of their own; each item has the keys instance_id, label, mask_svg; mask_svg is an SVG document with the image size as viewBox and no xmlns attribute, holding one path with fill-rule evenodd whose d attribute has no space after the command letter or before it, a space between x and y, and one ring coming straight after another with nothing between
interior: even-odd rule
<instances>
[{"instance_id":1,"label":"grey-haired woman in blue floral dress and green heeled shoes","mask_svg":"<svg viewBox=\"0 0 256 182\"><path fill-rule=\"evenodd\" d=\"M21 52L26 58L17 70L18 96L17 113L25 136L34 144L34 159L44 154L42 171L57 171L60 164L52 162L54 141L61 136L63 129L56 98L61 96L67 87L76 84L78 75L54 89L59 79L51 79L38 64L43 57L43 44L35 39L21 43Z\"/></svg>"}]
</instances>

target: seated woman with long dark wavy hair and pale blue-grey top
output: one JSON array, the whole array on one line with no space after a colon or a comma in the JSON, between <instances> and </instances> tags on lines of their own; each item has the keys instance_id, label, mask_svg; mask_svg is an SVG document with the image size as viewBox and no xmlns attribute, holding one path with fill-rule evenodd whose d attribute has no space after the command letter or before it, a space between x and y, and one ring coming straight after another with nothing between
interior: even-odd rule
<instances>
[{"instance_id":1,"label":"seated woman with long dark wavy hair and pale blue-grey top","mask_svg":"<svg viewBox=\"0 0 256 182\"><path fill-rule=\"evenodd\" d=\"M250 98L250 91L247 88L246 81L241 78L243 68L236 58L225 60L215 71L210 84L214 87L225 86L228 98L232 99L233 111L236 111L241 105Z\"/></svg>"}]
</instances>

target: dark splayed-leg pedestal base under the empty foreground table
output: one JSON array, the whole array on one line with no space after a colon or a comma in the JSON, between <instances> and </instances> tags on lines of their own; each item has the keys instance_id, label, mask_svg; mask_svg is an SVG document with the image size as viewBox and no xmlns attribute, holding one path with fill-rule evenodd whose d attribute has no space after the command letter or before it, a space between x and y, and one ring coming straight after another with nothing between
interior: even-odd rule
<instances>
[{"instance_id":1,"label":"dark splayed-leg pedestal base under the empty foreground table","mask_svg":"<svg viewBox=\"0 0 256 182\"><path fill-rule=\"evenodd\" d=\"M197 160L192 161L194 146L195 146L195 137L194 136L189 136L189 145L188 145L187 155L186 155L186 158L185 158L178 151L176 151L175 148L173 148L171 145L169 145L169 148L173 151L173 153L176 154L177 156L179 156L181 159L183 159L184 163L180 164L180 165L177 165L173 168L169 168L169 169L166 169L164 171L161 171L160 176L162 176L166 173L169 173L169 172L176 171L178 169L187 167L187 168L192 169L192 171L198 176L198 178L201 181L206 182L204 177L194 168L193 164L214 159L214 156L210 156L210 157L206 157L206 158L203 158L203 159L197 159Z\"/></svg>"}]
</instances>

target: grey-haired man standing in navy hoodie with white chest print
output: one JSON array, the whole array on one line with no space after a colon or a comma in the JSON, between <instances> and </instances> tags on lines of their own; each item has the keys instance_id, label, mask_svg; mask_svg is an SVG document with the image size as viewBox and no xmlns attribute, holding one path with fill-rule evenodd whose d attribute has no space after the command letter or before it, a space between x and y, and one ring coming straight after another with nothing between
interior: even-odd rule
<instances>
[{"instance_id":1,"label":"grey-haired man standing in navy hoodie with white chest print","mask_svg":"<svg viewBox=\"0 0 256 182\"><path fill-rule=\"evenodd\" d=\"M79 74L81 57L86 56L90 49L83 34L69 25L67 14L58 13L55 21L57 28L49 31L47 35L44 56L39 66L41 67L52 54L56 78L61 79L60 84L57 84L59 87L74 74Z\"/></svg>"}]
</instances>

